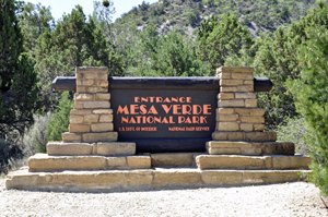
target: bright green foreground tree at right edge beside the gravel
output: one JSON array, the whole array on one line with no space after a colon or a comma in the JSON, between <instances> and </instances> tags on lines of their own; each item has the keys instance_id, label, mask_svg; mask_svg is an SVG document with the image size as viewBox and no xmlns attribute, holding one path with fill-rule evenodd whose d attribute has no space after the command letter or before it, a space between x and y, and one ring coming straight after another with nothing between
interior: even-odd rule
<instances>
[{"instance_id":1,"label":"bright green foreground tree at right edge beside the gravel","mask_svg":"<svg viewBox=\"0 0 328 217\"><path fill-rule=\"evenodd\" d=\"M328 195L328 29L327 26L306 29L308 40L297 56L300 79L289 80L296 97L296 108L308 125L307 143L313 162L309 180Z\"/></svg>"}]
</instances>

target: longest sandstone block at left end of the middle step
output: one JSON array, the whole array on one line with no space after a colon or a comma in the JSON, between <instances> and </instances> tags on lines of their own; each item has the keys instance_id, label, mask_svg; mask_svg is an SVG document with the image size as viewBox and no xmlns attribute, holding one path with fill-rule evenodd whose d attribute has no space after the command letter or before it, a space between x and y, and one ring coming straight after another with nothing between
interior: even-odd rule
<instances>
[{"instance_id":1,"label":"longest sandstone block at left end of the middle step","mask_svg":"<svg viewBox=\"0 0 328 217\"><path fill-rule=\"evenodd\" d=\"M37 154L28 158L30 171L104 169L107 167L105 157L99 156L48 156Z\"/></svg>"}]
</instances>

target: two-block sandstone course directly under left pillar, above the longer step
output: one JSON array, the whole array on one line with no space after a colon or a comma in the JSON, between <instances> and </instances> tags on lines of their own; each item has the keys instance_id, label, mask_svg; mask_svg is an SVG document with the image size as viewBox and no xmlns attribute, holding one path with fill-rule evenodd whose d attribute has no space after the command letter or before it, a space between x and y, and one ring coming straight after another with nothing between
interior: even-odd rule
<instances>
[{"instance_id":1,"label":"two-block sandstone course directly under left pillar, above the longer step","mask_svg":"<svg viewBox=\"0 0 328 217\"><path fill-rule=\"evenodd\" d=\"M101 143L63 143L49 142L47 154L55 156L72 155L134 155L136 143L101 142Z\"/></svg>"}]
</instances>

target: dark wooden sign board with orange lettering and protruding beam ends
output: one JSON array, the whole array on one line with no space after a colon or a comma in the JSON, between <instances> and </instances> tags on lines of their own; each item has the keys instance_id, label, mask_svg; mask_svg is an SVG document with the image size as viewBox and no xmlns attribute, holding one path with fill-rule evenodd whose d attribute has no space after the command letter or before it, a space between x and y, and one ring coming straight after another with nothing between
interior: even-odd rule
<instances>
[{"instance_id":1,"label":"dark wooden sign board with orange lettering and protruding beam ends","mask_svg":"<svg viewBox=\"0 0 328 217\"><path fill-rule=\"evenodd\" d=\"M267 77L250 77L268 92ZM77 91L75 77L57 77L56 91ZM253 84L251 84L253 85ZM138 153L204 152L215 131L220 77L108 77L114 131Z\"/></svg>"}]
</instances>

